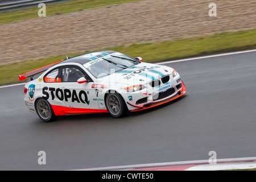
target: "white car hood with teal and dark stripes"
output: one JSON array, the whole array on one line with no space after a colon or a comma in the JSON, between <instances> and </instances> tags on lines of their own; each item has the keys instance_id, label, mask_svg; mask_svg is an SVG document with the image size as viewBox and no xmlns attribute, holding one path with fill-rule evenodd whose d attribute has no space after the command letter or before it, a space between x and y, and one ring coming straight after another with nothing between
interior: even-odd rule
<instances>
[{"instance_id":1,"label":"white car hood with teal and dark stripes","mask_svg":"<svg viewBox=\"0 0 256 182\"><path fill-rule=\"evenodd\" d=\"M164 65L156 65L150 63L140 63L133 67L123 69L122 71L115 72L112 75L100 78L100 82L105 83L118 83L126 85L144 85L148 82L171 75L173 68Z\"/></svg>"}]
</instances>

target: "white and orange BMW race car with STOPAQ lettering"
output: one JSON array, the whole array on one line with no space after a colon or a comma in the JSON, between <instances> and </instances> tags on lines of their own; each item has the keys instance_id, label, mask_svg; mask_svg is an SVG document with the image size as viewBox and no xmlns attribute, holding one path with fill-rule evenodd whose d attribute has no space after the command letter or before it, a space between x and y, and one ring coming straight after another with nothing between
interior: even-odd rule
<instances>
[{"instance_id":1,"label":"white and orange BMW race car with STOPAQ lettering","mask_svg":"<svg viewBox=\"0 0 256 182\"><path fill-rule=\"evenodd\" d=\"M45 122L67 114L110 113L119 118L186 92L175 69L115 51L67 57L19 75L19 80L28 77L25 104Z\"/></svg>"}]
</instances>

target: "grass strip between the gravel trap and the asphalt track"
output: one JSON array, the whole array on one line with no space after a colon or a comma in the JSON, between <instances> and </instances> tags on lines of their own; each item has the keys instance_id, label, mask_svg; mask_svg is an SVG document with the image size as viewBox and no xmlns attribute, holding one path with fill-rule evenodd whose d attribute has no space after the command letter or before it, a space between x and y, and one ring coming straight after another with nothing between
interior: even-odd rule
<instances>
[{"instance_id":1,"label":"grass strip between the gravel trap and the asphalt track","mask_svg":"<svg viewBox=\"0 0 256 182\"><path fill-rule=\"evenodd\" d=\"M154 62L253 48L256 48L256 28L247 31L223 32L158 43L131 43L129 45L105 48L105 50L122 52L132 57L140 56L144 62ZM85 52L93 51L99 50L88 50ZM85 52L77 52L68 56L72 57ZM0 85L18 82L18 75L61 59L65 59L65 53L60 56L48 57L47 59L23 61L22 63L1 66Z\"/></svg>"}]
</instances>

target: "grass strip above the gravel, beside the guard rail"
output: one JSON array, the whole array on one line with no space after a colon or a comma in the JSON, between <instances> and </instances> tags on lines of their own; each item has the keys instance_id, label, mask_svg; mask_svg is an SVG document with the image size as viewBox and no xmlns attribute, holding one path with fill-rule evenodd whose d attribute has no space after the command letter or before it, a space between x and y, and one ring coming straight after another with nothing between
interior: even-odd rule
<instances>
[{"instance_id":1,"label":"grass strip above the gravel, beside the guard rail","mask_svg":"<svg viewBox=\"0 0 256 182\"><path fill-rule=\"evenodd\" d=\"M46 15L65 14L84 9L92 9L108 5L117 5L138 0L75 0L63 3L56 3L46 6ZM16 22L24 19L38 18L39 8L32 7L29 9L16 10L0 13L0 24Z\"/></svg>"}]
</instances>

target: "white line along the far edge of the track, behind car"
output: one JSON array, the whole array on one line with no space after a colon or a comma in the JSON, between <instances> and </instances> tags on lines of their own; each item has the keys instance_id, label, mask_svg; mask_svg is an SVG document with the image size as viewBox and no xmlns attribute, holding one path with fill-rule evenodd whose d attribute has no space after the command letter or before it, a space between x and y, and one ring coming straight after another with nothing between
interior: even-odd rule
<instances>
[{"instance_id":1,"label":"white line along the far edge of the track, behind car","mask_svg":"<svg viewBox=\"0 0 256 182\"><path fill-rule=\"evenodd\" d=\"M256 49L253 50L249 50L249 51L239 51L239 52L229 52L229 53L220 53L217 55L210 55L210 56L201 56L201 57L192 57L192 58L188 58L188 59L180 59L180 60L172 60L172 61L164 61L162 63L155 63L155 64L167 64L167 63L177 63L177 62L182 62L182 61L189 61L189 60L196 60L196 59L205 59L205 58L209 58L209 57L218 57L218 56L228 56L228 55L236 55L238 53L247 53L247 52L255 52ZM14 85L5 85L5 86L0 86L0 88L7 88L7 87L11 87L11 86L18 86L18 85L23 85L22 84L14 84Z\"/></svg>"}]
</instances>

